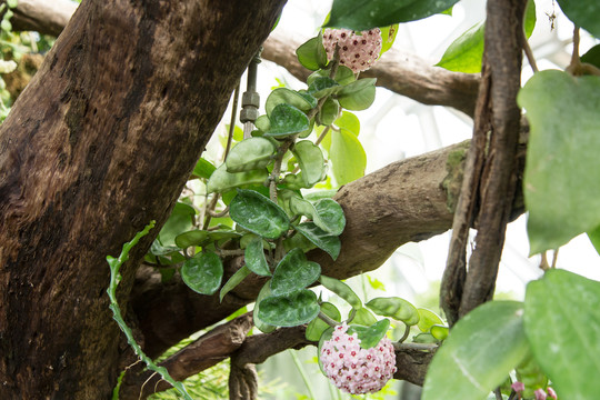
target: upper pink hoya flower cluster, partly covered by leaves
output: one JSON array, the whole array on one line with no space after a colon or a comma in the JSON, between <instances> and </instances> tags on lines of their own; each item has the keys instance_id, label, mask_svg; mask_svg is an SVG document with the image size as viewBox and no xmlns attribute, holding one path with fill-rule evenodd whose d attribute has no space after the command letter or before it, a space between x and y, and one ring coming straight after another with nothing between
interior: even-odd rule
<instances>
[{"instance_id":1,"label":"upper pink hoya flower cluster, partly covered by leaves","mask_svg":"<svg viewBox=\"0 0 600 400\"><path fill-rule=\"evenodd\" d=\"M381 31L373 28L360 33L350 29L326 29L323 47L327 58L332 59L336 44L340 47L340 64L350 68L354 73L368 70L381 51Z\"/></svg>"}]
</instances>

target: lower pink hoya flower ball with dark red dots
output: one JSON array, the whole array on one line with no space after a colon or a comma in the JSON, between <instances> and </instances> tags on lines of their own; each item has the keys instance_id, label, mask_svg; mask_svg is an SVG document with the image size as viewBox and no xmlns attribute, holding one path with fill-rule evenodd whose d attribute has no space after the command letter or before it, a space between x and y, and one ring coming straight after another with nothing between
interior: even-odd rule
<instances>
[{"instance_id":1,"label":"lower pink hoya flower ball with dark red dots","mask_svg":"<svg viewBox=\"0 0 600 400\"><path fill-rule=\"evenodd\" d=\"M336 327L321 348L321 362L329 380L351 394L381 390L396 372L396 353L388 338L370 349L360 347L357 333L349 336L348 326Z\"/></svg>"}]
</instances>

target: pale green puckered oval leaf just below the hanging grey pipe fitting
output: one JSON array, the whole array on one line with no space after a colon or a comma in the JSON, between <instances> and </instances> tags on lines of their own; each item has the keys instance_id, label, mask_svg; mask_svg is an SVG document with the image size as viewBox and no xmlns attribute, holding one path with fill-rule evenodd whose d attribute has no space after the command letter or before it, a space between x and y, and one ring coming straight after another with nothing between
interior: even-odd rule
<instances>
[{"instance_id":1,"label":"pale green puckered oval leaf just below the hanging grey pipe fitting","mask_svg":"<svg viewBox=\"0 0 600 400\"><path fill-rule=\"evenodd\" d=\"M249 138L239 142L227 156L228 172L263 169L272 161L277 147L264 138Z\"/></svg>"}]
</instances>

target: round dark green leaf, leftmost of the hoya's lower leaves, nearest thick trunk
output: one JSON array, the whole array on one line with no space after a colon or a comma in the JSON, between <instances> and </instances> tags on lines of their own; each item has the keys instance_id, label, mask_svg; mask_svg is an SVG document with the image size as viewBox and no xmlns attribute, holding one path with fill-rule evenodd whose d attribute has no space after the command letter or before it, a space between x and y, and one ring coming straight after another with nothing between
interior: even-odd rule
<instances>
[{"instance_id":1,"label":"round dark green leaf, leftmost of the hoya's lower leaves, nearest thick trunk","mask_svg":"<svg viewBox=\"0 0 600 400\"><path fill-rule=\"evenodd\" d=\"M223 264L213 252L200 252L186 260L181 267L183 282L200 294L214 294L221 286Z\"/></svg>"}]
</instances>

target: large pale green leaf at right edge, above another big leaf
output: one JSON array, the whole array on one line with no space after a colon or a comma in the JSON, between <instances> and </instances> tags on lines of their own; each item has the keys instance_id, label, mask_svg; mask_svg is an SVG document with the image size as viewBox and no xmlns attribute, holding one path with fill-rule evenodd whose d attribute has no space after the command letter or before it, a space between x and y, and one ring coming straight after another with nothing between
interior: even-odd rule
<instances>
[{"instance_id":1,"label":"large pale green leaf at right edge, above another big leaf","mask_svg":"<svg viewBox=\"0 0 600 400\"><path fill-rule=\"evenodd\" d=\"M541 71L518 102L531 126L523 188L534 254L600 226L600 184L590 173L600 171L600 77Z\"/></svg>"}]
</instances>

